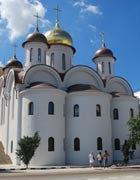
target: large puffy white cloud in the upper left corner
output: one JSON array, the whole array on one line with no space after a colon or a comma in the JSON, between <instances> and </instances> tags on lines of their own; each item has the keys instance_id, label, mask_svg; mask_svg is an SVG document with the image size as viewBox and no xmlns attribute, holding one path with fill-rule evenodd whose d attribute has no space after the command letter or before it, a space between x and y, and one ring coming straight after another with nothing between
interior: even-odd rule
<instances>
[{"instance_id":1,"label":"large puffy white cloud in the upper left corner","mask_svg":"<svg viewBox=\"0 0 140 180\"><path fill-rule=\"evenodd\" d=\"M39 0L0 0L0 3L1 20L6 22L11 41L27 33L36 23L33 15L38 13L44 17L46 11Z\"/></svg>"}]
</instances>

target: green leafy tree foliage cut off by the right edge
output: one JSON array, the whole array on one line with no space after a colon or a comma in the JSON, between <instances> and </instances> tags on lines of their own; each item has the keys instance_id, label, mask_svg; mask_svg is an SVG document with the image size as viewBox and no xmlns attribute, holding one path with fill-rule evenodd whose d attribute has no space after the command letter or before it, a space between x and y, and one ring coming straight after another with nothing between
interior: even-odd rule
<instances>
[{"instance_id":1,"label":"green leafy tree foliage cut off by the right edge","mask_svg":"<svg viewBox=\"0 0 140 180\"><path fill-rule=\"evenodd\" d=\"M140 116L133 117L127 122L129 129L129 142L133 146L140 144Z\"/></svg>"}]
</instances>

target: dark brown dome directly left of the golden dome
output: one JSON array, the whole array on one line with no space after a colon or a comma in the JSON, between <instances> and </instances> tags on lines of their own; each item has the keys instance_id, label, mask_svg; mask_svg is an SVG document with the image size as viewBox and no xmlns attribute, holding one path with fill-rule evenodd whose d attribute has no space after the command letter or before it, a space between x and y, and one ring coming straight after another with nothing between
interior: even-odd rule
<instances>
[{"instance_id":1,"label":"dark brown dome directly left of the golden dome","mask_svg":"<svg viewBox=\"0 0 140 180\"><path fill-rule=\"evenodd\" d=\"M28 42L43 42L48 45L46 37L44 34L40 33L38 29L27 36L26 41L22 44L22 46L24 47L24 45Z\"/></svg>"}]
</instances>

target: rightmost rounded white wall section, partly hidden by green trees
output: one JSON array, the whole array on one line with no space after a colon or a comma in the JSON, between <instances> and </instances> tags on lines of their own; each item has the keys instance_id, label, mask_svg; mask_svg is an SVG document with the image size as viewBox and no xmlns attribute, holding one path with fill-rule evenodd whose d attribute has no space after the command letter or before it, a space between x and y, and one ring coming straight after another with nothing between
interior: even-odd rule
<instances>
[{"instance_id":1,"label":"rightmost rounded white wall section, partly hidden by green trees","mask_svg":"<svg viewBox=\"0 0 140 180\"><path fill-rule=\"evenodd\" d=\"M129 131L127 126L127 121L130 117L130 109L134 110L134 116L139 114L138 100L131 96L122 96L112 99L112 132L113 132L113 158L114 160L123 160L123 155L121 150L115 150L114 140L118 138L120 140L120 145L124 144L124 141L129 138ZM113 109L117 108L119 111L119 119L113 119ZM137 150L138 151L138 150ZM137 152L136 152L137 153ZM140 156L140 153L139 153Z\"/></svg>"}]
</instances>

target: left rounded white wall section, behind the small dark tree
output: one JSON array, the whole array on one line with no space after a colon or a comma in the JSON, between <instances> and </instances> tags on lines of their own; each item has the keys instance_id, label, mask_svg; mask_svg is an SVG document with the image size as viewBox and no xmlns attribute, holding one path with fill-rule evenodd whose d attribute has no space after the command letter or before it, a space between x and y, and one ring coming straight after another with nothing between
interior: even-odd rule
<instances>
[{"instance_id":1,"label":"left rounded white wall section, behind the small dark tree","mask_svg":"<svg viewBox=\"0 0 140 180\"><path fill-rule=\"evenodd\" d=\"M22 137L32 136L36 131L41 137L32 165L64 165L66 93L58 89L35 88L21 92L22 96ZM28 103L34 103L34 115L28 115ZM48 102L54 103L54 115L48 115ZM55 151L48 151L48 138L55 139Z\"/></svg>"}]
</instances>

